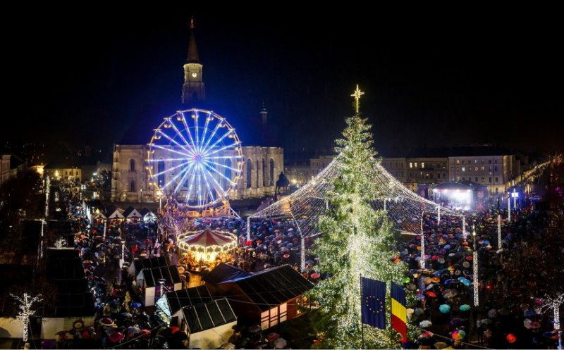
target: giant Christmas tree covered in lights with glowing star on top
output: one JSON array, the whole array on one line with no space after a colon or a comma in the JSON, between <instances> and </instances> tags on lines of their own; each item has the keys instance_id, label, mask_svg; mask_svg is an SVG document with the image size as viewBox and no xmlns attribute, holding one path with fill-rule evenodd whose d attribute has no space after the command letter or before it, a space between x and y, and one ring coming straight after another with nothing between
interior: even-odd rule
<instances>
[{"instance_id":1,"label":"giant Christmas tree covered in lights with glowing star on top","mask_svg":"<svg viewBox=\"0 0 564 350\"><path fill-rule=\"evenodd\" d=\"M323 336L322 348L350 349L361 346L360 273L364 277L399 282L405 265L391 261L393 234L384 211L374 211L370 203L376 201L381 189L374 179L378 173L374 165L371 125L360 116L360 96L357 89L355 115L347 118L343 139L337 139L336 158L338 176L333 189L327 193L329 210L319 218L323 235L315 253L320 258L319 270L327 277L313 290L312 298L321 308L318 331ZM389 299L388 299L389 300ZM378 330L364 325L364 348L389 349L398 347L399 336L389 329Z\"/></svg>"}]
</instances>

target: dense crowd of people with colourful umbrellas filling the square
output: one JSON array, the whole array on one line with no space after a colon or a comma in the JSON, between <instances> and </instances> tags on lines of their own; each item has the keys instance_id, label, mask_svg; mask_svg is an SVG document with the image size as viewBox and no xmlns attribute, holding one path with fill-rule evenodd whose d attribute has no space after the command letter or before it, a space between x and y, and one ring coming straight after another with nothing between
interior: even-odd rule
<instances>
[{"instance_id":1,"label":"dense crowd of people with colourful umbrellas filling the square","mask_svg":"<svg viewBox=\"0 0 564 350\"><path fill-rule=\"evenodd\" d=\"M82 331L80 337L97 339L102 347L122 343L145 349L164 346L167 327L159 328L161 321L157 316L140 311L142 304L130 293L133 278L123 268L128 263L121 263L133 258L166 256L171 263L178 260L190 271L197 262L182 255L176 237L159 231L156 223L121 221L106 226L90 223L76 202L69 200L67 208L75 232L75 249L96 298L94 324ZM223 262L252 273L283 264L300 270L302 247L294 220L252 220L247 227L247 221L240 218L186 220L181 212L177 208L178 216L174 214L173 218L183 223L183 230L199 232L209 227L238 237L233 255L223 256ZM564 248L560 245L556 255L553 249L547 249L554 246L551 240L555 238L546 235L551 223L548 215L527 207L514 211L512 216L509 221L507 213L501 213L501 242L497 238L498 212L493 210L467 216L467 227L462 227L458 216L443 216L439 221L436 215L425 215L423 257L420 236L398 242L398 254L391 258L409 266L410 273L403 282L417 296L407 312L419 337L405 342L406 348L556 346L558 338L553 332L551 313L541 312L545 296L532 297L532 291L539 289L539 283L558 285L562 278L558 266L561 269L564 265ZM477 233L475 241L472 225ZM308 280L318 282L317 258L310 252L314 244L314 238L305 239L306 268L300 272ZM479 266L477 307L472 288L474 249ZM539 261L550 260L556 270L539 270ZM71 331L67 334L75 337ZM63 341L64 337L68 335L61 333Z\"/></svg>"}]
</instances>

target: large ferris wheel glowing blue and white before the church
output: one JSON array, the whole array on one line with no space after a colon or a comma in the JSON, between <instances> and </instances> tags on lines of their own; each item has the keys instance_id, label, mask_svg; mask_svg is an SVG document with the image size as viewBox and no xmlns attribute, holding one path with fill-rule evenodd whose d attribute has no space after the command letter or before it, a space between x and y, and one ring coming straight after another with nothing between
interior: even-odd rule
<instances>
[{"instance_id":1,"label":"large ferris wheel glowing blue and white before the church","mask_svg":"<svg viewBox=\"0 0 564 350\"><path fill-rule=\"evenodd\" d=\"M210 208L228 199L242 169L235 128L212 111L192 108L165 117L149 142L149 182L189 208Z\"/></svg>"}]
</instances>

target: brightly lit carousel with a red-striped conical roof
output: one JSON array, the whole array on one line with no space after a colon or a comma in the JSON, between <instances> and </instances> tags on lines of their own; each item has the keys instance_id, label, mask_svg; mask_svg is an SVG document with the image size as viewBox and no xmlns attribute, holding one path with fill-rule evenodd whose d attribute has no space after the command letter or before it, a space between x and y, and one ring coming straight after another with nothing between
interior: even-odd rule
<instances>
[{"instance_id":1,"label":"brightly lit carousel with a red-striped conical roof","mask_svg":"<svg viewBox=\"0 0 564 350\"><path fill-rule=\"evenodd\" d=\"M230 232L209 228L188 232L178 237L180 265L190 265L193 270L212 269L215 265L233 261L237 237Z\"/></svg>"}]
</instances>

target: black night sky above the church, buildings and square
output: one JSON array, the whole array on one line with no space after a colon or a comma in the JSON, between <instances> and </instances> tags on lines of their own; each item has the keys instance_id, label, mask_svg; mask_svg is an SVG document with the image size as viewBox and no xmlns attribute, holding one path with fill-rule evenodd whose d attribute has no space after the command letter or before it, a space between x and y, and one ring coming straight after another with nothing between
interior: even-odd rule
<instances>
[{"instance_id":1,"label":"black night sky above the church, buildings and square","mask_svg":"<svg viewBox=\"0 0 564 350\"><path fill-rule=\"evenodd\" d=\"M2 127L1 137L104 152L146 143L180 106L194 15L208 102L244 145L261 142L253 123L264 101L270 144L331 149L359 84L384 155L486 142L564 148L556 18L256 11L262 15L172 6L16 12L4 51L4 115L14 126Z\"/></svg>"}]
</instances>

